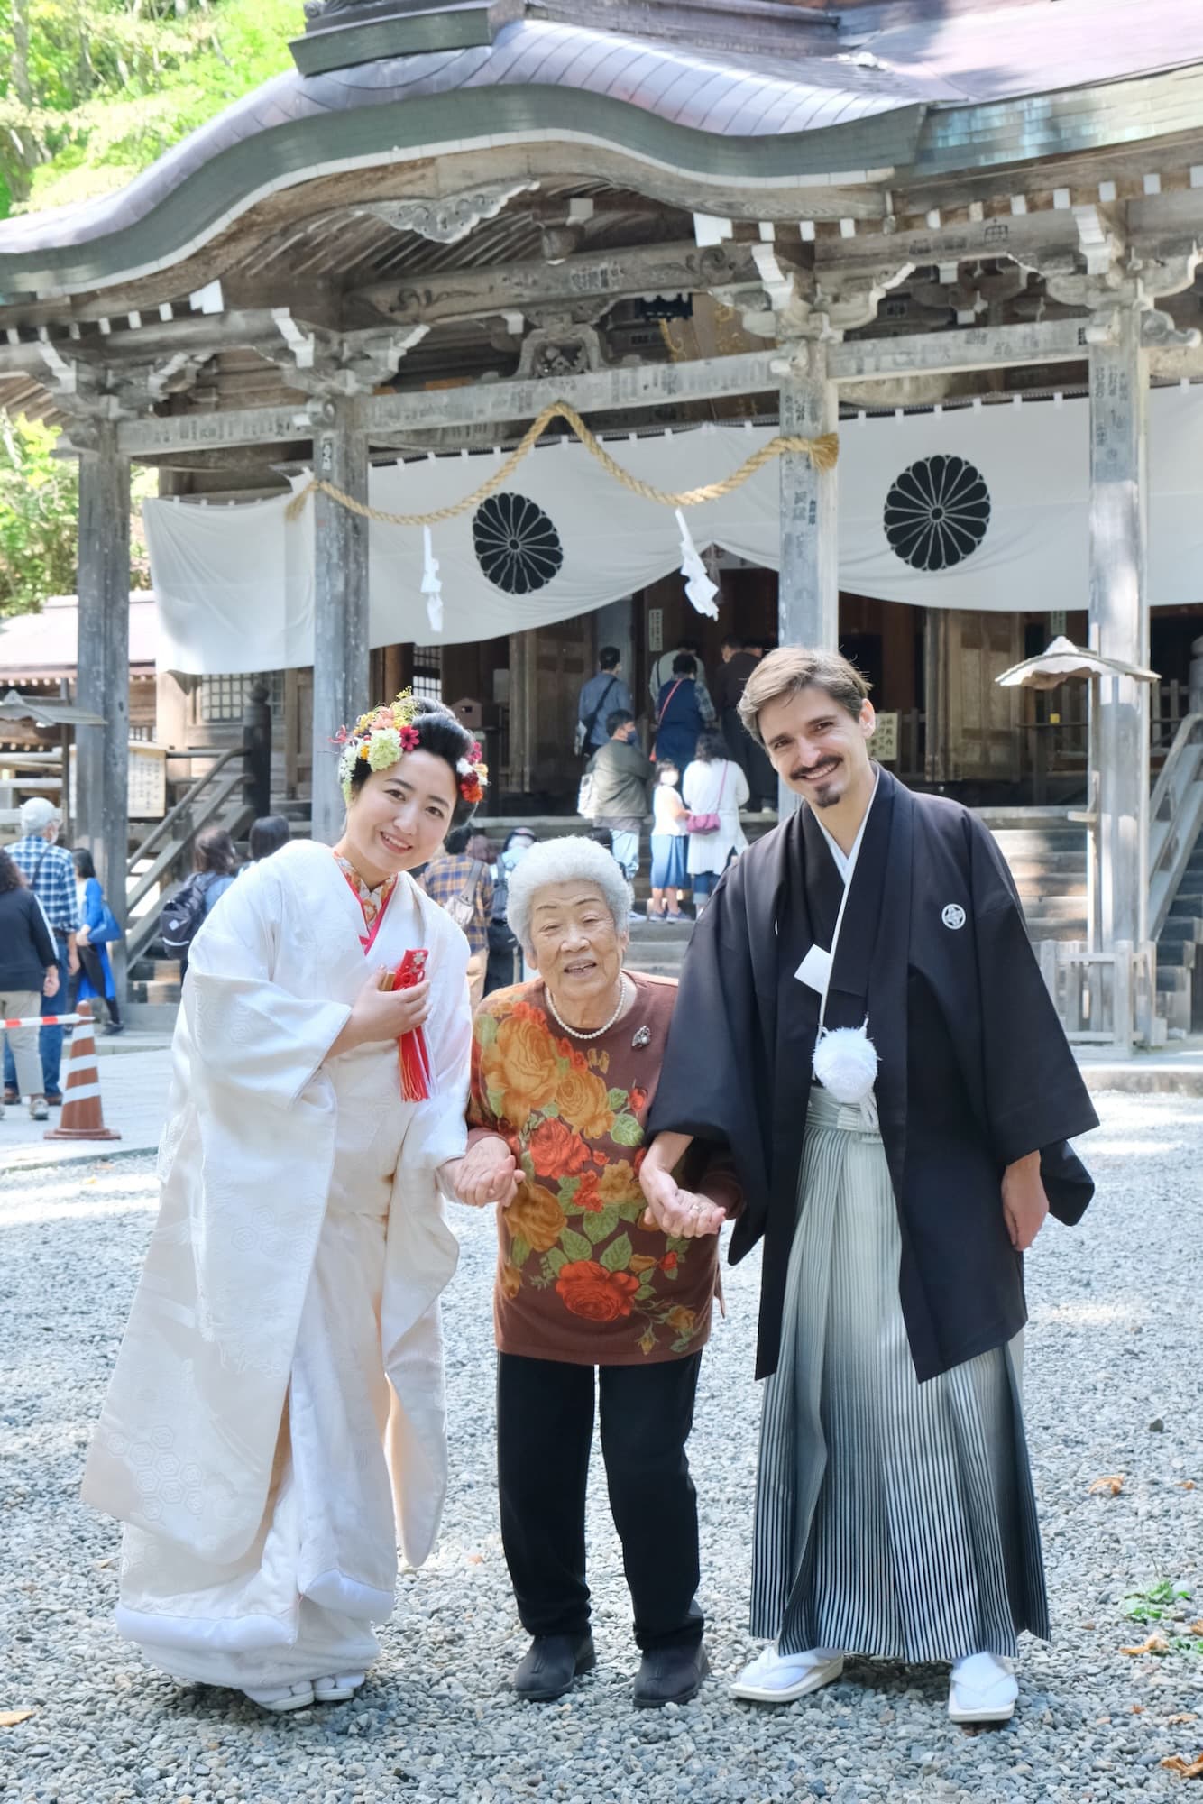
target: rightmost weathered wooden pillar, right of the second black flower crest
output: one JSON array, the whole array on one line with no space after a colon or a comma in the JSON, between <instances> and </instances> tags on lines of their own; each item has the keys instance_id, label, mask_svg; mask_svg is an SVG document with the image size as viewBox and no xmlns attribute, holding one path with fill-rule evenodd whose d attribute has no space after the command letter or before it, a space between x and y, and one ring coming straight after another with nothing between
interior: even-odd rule
<instances>
[{"instance_id":1,"label":"rightmost weathered wooden pillar, right of the second black flower crest","mask_svg":"<svg viewBox=\"0 0 1203 1804\"><path fill-rule=\"evenodd\" d=\"M1149 662L1147 512L1149 354L1140 312L1089 346L1089 640L1102 657ZM1149 687L1097 686L1098 756L1095 931L1100 951L1143 945L1149 920Z\"/></svg>"}]
</instances>

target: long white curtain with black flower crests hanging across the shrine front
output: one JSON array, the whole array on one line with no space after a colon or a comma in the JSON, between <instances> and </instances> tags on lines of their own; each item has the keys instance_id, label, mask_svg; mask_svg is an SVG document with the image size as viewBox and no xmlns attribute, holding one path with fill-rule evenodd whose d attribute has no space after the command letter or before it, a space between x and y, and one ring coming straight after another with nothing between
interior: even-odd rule
<instances>
[{"instance_id":1,"label":"long white curtain with black flower crests hanging across the shrine front","mask_svg":"<svg viewBox=\"0 0 1203 1804\"><path fill-rule=\"evenodd\" d=\"M770 437L772 428L705 426L608 449L631 474L678 491L718 482ZM373 469L372 505L445 507L476 489L496 460L500 453L431 456ZM844 420L840 588L941 608L1082 608L1088 476L1086 400ZM691 509L694 541L776 568L777 482L768 464L723 500ZM1203 592L1199 390L1149 397L1149 491L1152 603L1194 603ZM142 503L161 669L312 664L314 509L289 525L285 505ZM548 626L680 565L673 511L613 482L575 440L534 451L483 512L435 527L433 548L442 635L431 631L420 590L420 529L370 527L373 646L436 637L458 644Z\"/></svg>"}]
</instances>

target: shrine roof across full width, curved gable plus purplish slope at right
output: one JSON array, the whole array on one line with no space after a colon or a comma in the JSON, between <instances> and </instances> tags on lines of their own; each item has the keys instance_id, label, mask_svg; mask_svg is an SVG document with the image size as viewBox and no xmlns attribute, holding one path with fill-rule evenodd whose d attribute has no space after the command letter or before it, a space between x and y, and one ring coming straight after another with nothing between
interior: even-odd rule
<instances>
[{"instance_id":1,"label":"shrine roof across full width, curved gable plus purplish slope at right","mask_svg":"<svg viewBox=\"0 0 1203 1804\"><path fill-rule=\"evenodd\" d=\"M1203 106L1199 70L1181 70L1174 94L1152 92L1156 78L1147 92L1122 79L1203 58L1203 16L1189 25L1178 0L1012 0L940 29L904 20L893 31L896 9L877 11L849 14L860 49L736 67L721 52L523 18L485 47L283 74L119 193L0 224L0 303L175 265L278 189L467 143L604 144L732 195L1098 148L1181 130ZM1098 29L1104 16L1113 29ZM1075 67L1075 32L1093 45L1075 79L1111 88L1050 88ZM467 130L471 141L458 135Z\"/></svg>"}]
</instances>

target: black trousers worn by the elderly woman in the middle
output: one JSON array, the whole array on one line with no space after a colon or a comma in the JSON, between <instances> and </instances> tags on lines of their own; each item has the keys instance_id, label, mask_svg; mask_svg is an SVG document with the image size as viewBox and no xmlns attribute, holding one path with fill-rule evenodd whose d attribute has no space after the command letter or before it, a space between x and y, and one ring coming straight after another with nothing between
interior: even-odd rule
<instances>
[{"instance_id":1,"label":"black trousers worn by the elderly woman in the middle","mask_svg":"<svg viewBox=\"0 0 1203 1804\"><path fill-rule=\"evenodd\" d=\"M583 1634L584 1488L593 1385L610 1510L635 1606L640 1649L702 1640L698 1506L685 1441L702 1355L655 1366L570 1366L498 1355L501 1544L528 1634Z\"/></svg>"}]
</instances>

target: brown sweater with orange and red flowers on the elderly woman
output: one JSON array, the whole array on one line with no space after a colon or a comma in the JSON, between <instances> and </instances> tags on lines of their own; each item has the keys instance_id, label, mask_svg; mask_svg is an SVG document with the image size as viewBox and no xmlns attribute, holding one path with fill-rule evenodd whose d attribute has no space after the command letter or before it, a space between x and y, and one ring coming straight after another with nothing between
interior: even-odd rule
<instances>
[{"instance_id":1,"label":"brown sweater with orange and red flowers on the elderly woman","mask_svg":"<svg viewBox=\"0 0 1203 1804\"><path fill-rule=\"evenodd\" d=\"M581 1366L638 1366L696 1353L711 1331L718 1236L671 1239L640 1227L638 1167L676 998L635 980L635 1005L601 1039L561 1032L543 981L494 990L473 1028L469 1138L500 1133L523 1171L498 1209L498 1348ZM694 1142L678 1173L729 1214L730 1160Z\"/></svg>"}]
</instances>

